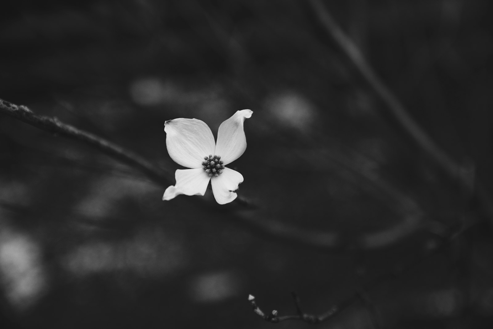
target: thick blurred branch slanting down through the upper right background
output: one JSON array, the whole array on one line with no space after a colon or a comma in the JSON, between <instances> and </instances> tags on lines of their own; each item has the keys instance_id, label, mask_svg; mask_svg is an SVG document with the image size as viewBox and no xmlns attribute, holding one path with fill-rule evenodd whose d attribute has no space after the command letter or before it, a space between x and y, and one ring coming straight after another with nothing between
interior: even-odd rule
<instances>
[{"instance_id":1,"label":"thick blurred branch slanting down through the upper right background","mask_svg":"<svg viewBox=\"0 0 493 329\"><path fill-rule=\"evenodd\" d=\"M457 182L466 191L473 190L471 175L466 174L457 161L451 158L433 139L423 130L409 111L402 105L390 88L382 81L371 65L366 61L359 48L350 37L344 33L336 23L332 15L321 0L309 0L308 7L320 22L325 33L340 48L343 55L350 61L352 66L360 74L363 81L387 106L388 113L398 122L405 133L423 149L426 155L432 159L443 172L454 182ZM493 205L491 197L484 187L476 183L475 193L481 207L490 217L493 217Z\"/></svg>"}]
</instances>

